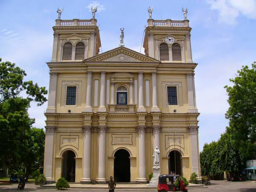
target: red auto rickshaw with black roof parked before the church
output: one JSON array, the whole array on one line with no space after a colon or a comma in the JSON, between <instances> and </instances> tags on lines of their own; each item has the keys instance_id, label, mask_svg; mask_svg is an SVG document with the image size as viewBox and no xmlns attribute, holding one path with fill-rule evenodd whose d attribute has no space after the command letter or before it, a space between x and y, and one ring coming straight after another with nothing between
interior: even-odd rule
<instances>
[{"instance_id":1,"label":"red auto rickshaw with black roof parked before the church","mask_svg":"<svg viewBox=\"0 0 256 192\"><path fill-rule=\"evenodd\" d=\"M176 181L175 181L176 180ZM178 184L175 186L175 183ZM157 191L167 192L167 191L181 191L188 192L185 187L185 183L180 177L180 175L160 175L158 177Z\"/></svg>"}]
</instances>

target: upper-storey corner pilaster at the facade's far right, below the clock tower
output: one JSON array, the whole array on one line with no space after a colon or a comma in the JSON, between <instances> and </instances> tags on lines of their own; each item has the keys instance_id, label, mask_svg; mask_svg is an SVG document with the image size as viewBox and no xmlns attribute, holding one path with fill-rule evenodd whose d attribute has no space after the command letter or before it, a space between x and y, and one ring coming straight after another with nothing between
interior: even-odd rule
<instances>
[{"instance_id":1,"label":"upper-storey corner pilaster at the facade's far right, below the clock tower","mask_svg":"<svg viewBox=\"0 0 256 192\"><path fill-rule=\"evenodd\" d=\"M189 103L189 108L188 108L188 113L198 113L198 109L195 106L195 85L193 83L194 79L194 73L189 73L186 74L187 78L187 87L188 87L188 103Z\"/></svg>"}]
</instances>

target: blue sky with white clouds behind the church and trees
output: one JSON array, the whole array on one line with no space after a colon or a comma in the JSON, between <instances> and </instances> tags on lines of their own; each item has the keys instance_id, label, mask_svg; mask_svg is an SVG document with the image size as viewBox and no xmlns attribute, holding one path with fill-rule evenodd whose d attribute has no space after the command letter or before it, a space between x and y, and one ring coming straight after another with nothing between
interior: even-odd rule
<instances>
[{"instance_id":1,"label":"blue sky with white clouds behind the church and trees","mask_svg":"<svg viewBox=\"0 0 256 192\"><path fill-rule=\"evenodd\" d=\"M195 86L199 116L199 147L218 140L228 125L228 109L223 88L242 65L256 61L254 55L256 0L1 0L0 57L15 62L28 74L26 79L49 86L46 62L52 55L52 26L57 7L64 7L61 19L90 19L90 5L98 5L96 19L102 51L119 46L120 27L125 28L125 47L140 52L147 7L153 6L156 20L183 20L182 7L188 8L192 27L192 55L198 63ZM144 50L142 49L142 53ZM47 104L31 105L29 115L35 127L44 128Z\"/></svg>"}]
</instances>

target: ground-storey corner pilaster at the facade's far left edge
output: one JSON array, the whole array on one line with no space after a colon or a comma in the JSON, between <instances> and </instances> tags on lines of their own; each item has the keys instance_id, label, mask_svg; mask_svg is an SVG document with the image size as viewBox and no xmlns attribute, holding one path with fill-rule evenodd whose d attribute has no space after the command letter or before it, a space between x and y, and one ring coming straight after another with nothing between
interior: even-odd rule
<instances>
[{"instance_id":1,"label":"ground-storey corner pilaster at the facade's far left edge","mask_svg":"<svg viewBox=\"0 0 256 192\"><path fill-rule=\"evenodd\" d=\"M45 127L45 148L44 148L44 175L46 177L46 183L54 183L53 177L53 153L54 153L54 133L56 127L46 126Z\"/></svg>"}]
</instances>

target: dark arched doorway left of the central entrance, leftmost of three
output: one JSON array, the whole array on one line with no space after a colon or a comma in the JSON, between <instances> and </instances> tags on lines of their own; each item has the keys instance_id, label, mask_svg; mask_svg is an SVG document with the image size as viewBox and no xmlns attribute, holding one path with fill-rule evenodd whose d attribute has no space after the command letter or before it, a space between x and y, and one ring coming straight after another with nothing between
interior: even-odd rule
<instances>
[{"instance_id":1,"label":"dark arched doorway left of the central entrance, leftmost of three","mask_svg":"<svg viewBox=\"0 0 256 192\"><path fill-rule=\"evenodd\" d=\"M62 172L61 177L64 177L68 182L75 182L76 178L76 154L73 151L65 151L62 155Z\"/></svg>"}]
</instances>

